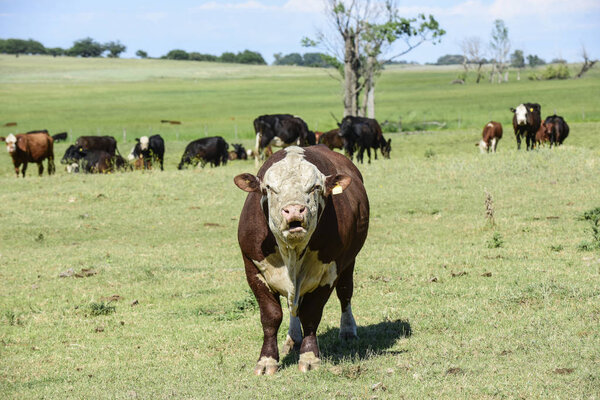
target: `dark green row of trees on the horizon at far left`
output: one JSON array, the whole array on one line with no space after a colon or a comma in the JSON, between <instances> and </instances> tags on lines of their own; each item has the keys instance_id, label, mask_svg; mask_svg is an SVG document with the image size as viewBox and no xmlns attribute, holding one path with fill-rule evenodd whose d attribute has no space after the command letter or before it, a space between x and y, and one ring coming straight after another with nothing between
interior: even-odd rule
<instances>
[{"instance_id":1,"label":"dark green row of trees on the horizon at far left","mask_svg":"<svg viewBox=\"0 0 600 400\"><path fill-rule=\"evenodd\" d=\"M106 53L107 57L118 58L125 50L127 50L127 47L118 40L99 43L89 37L76 40L69 49L63 49L61 47L45 47L43 44L33 39L0 39L0 53L14 54L17 57L19 54L47 54L54 57L102 57Z\"/></svg>"}]
</instances>

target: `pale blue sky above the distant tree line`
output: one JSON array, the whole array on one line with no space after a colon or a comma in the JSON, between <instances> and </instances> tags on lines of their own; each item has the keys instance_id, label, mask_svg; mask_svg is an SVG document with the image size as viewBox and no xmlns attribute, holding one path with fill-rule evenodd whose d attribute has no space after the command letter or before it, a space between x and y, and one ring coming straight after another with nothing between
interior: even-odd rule
<instances>
[{"instance_id":1,"label":"pale blue sky above the distant tree line","mask_svg":"<svg viewBox=\"0 0 600 400\"><path fill-rule=\"evenodd\" d=\"M0 38L35 39L46 47L68 48L92 37L120 40L122 57L142 49L152 57L180 48L220 55L245 49L267 62L274 53L314 51L300 45L326 29L321 0L0 0ZM401 15L432 14L447 31L442 43L424 44L403 59L435 62L460 54L460 42L489 41L492 23L505 21L512 50L547 61L580 60L584 45L600 58L600 0L423 0L398 2ZM512 52L511 50L511 52Z\"/></svg>"}]
</instances>

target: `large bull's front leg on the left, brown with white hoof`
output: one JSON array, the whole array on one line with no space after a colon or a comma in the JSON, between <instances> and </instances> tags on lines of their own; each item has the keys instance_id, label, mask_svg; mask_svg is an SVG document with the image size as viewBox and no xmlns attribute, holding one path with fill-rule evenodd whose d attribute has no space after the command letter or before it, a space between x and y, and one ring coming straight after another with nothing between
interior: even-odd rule
<instances>
[{"instance_id":1,"label":"large bull's front leg on the left, brown with white hoof","mask_svg":"<svg viewBox=\"0 0 600 400\"><path fill-rule=\"evenodd\" d=\"M277 331L283 319L279 295L267 286L256 265L244 256L246 280L256 297L260 309L260 322L263 328L263 345L256 367L255 375L273 375L279 369L279 351L277 349Z\"/></svg>"}]
</instances>

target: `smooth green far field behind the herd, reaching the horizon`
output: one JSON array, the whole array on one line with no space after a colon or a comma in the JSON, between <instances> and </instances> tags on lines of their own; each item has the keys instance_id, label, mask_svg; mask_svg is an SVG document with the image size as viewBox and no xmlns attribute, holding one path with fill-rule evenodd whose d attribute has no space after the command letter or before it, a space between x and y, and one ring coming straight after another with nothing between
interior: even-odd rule
<instances>
[{"instance_id":1,"label":"smooth green far field behind the herd, reaching the horizon","mask_svg":"<svg viewBox=\"0 0 600 400\"><path fill-rule=\"evenodd\" d=\"M573 71L577 66L571 67ZM377 84L380 121L402 121L404 129L445 123L446 129L479 129L490 119L509 124L509 107L533 101L542 113L555 111L569 122L600 120L600 70L583 79L476 85L450 82L460 67L392 66ZM194 61L78 59L0 56L0 123L16 121L18 131L111 134L121 140L160 132L167 140L202 135L250 139L260 114L289 112L313 130L335 126L342 92L331 69L248 66ZM166 126L161 119L182 121ZM7 133L0 128L0 135Z\"/></svg>"}]
</instances>

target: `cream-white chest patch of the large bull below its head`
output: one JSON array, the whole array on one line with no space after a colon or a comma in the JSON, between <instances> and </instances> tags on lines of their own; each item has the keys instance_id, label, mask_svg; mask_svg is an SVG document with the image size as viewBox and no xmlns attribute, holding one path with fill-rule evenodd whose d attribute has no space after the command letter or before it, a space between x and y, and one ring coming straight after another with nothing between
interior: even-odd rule
<instances>
[{"instance_id":1,"label":"cream-white chest patch of the large bull below its head","mask_svg":"<svg viewBox=\"0 0 600 400\"><path fill-rule=\"evenodd\" d=\"M252 261L269 288L287 298L290 313L295 316L302 296L320 286L333 286L337 278L336 263L323 263L318 259L318 253L310 250L306 250L301 258L286 257L278 247L275 250L262 261Z\"/></svg>"}]
</instances>

